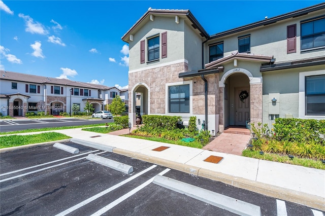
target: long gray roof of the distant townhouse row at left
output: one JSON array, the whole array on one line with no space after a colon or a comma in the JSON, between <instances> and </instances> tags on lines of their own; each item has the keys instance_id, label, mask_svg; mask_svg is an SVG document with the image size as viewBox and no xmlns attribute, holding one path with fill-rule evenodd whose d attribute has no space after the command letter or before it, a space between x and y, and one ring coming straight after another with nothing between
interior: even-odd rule
<instances>
[{"instance_id":1,"label":"long gray roof of the distant townhouse row at left","mask_svg":"<svg viewBox=\"0 0 325 216\"><path fill-rule=\"evenodd\" d=\"M53 84L53 85L82 87L82 88L91 88L91 89L100 89L100 90L113 88L104 85L83 83L83 82L72 81L68 79L57 79L52 77L42 77L37 75L21 74L12 71L6 71L6 70L0 70L0 72L1 72L0 80L20 81L25 83L36 83L36 84Z\"/></svg>"}]
</instances>

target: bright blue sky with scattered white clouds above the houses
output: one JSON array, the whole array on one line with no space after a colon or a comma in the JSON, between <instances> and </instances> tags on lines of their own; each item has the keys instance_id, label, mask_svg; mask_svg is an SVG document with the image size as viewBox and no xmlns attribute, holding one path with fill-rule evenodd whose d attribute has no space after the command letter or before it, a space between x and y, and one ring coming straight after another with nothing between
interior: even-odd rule
<instances>
[{"instance_id":1,"label":"bright blue sky with scattered white clouds above the houses","mask_svg":"<svg viewBox=\"0 0 325 216\"><path fill-rule=\"evenodd\" d=\"M211 35L322 2L0 0L0 68L127 87L121 37L149 7L189 9Z\"/></svg>"}]
</instances>

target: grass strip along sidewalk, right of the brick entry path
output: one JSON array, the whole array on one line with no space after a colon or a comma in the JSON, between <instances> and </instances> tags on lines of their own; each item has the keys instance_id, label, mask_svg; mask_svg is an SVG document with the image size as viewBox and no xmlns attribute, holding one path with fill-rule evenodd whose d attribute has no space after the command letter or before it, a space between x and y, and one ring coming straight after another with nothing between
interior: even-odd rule
<instances>
[{"instance_id":1,"label":"grass strip along sidewalk, right of the brick entry path","mask_svg":"<svg viewBox=\"0 0 325 216\"><path fill-rule=\"evenodd\" d=\"M325 165L319 160L312 160L306 158L294 157L290 159L288 156L281 156L277 154L264 153L263 155L259 154L259 151L250 151L248 149L244 150L242 156L249 158L256 158L266 161L275 161L280 163L294 164L299 166L305 166L316 169L325 169Z\"/></svg>"}]
</instances>

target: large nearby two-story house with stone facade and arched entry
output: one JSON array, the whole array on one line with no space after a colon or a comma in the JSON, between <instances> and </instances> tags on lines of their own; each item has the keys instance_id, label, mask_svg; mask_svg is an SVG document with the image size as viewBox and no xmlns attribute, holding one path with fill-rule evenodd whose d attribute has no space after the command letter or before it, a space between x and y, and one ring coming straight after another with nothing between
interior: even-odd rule
<instances>
[{"instance_id":1,"label":"large nearby two-story house with stone facade and arched entry","mask_svg":"<svg viewBox=\"0 0 325 216\"><path fill-rule=\"evenodd\" d=\"M189 10L149 8L122 40L133 124L139 93L141 113L196 116L210 131L325 119L325 3L213 35Z\"/></svg>"}]
</instances>

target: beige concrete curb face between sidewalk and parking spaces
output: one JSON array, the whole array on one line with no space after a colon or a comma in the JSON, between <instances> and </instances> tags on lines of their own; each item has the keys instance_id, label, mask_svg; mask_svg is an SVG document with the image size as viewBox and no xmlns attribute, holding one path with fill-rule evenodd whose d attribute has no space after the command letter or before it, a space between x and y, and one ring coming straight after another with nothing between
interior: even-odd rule
<instances>
[{"instance_id":1,"label":"beige concrete curb face between sidewalk and parking spaces","mask_svg":"<svg viewBox=\"0 0 325 216\"><path fill-rule=\"evenodd\" d=\"M170 160L165 160L156 157L149 157L141 153L135 153L123 149L115 148L113 149L113 153L143 160L160 166L165 166L171 169L176 169L178 171L186 172L192 175L209 178L218 182L222 182L237 188L249 190L258 194L263 194L266 196L286 200L289 202L294 202L301 205L306 205L311 208L325 211L325 206L324 206L325 198L323 197L306 194L304 192L288 190L286 188L281 188L278 186L273 186L261 182L255 182L246 178L236 177L233 175L211 171L200 167L190 166L182 163L176 163Z\"/></svg>"}]
</instances>

